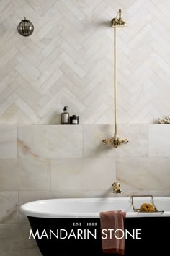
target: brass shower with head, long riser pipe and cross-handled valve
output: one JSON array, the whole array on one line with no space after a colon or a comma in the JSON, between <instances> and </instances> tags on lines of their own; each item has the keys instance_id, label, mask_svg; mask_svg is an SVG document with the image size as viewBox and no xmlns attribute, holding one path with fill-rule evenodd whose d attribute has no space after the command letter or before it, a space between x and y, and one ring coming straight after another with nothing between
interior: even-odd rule
<instances>
[{"instance_id":1,"label":"brass shower with head, long riser pipe and cross-handled valve","mask_svg":"<svg viewBox=\"0 0 170 256\"><path fill-rule=\"evenodd\" d=\"M119 146L120 144L124 143L127 144L128 143L128 139L120 139L120 137L117 135L117 106L116 106L116 27L126 27L127 24L122 20L122 11L121 9L119 10L119 12L117 13L117 16L119 16L117 18L117 16L112 19L111 21L111 27L114 28L114 106L115 106L115 112L114 112L114 117L115 117L115 131L114 131L114 135L111 139L108 140L103 140L102 142L104 144L110 144L112 145L114 148L117 148L117 146Z\"/></svg>"}]
</instances>

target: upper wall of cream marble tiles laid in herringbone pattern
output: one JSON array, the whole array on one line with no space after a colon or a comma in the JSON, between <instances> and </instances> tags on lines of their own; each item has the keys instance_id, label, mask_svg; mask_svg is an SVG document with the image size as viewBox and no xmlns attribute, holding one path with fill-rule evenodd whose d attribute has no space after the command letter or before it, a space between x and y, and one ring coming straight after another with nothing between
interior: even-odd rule
<instances>
[{"instance_id":1,"label":"upper wall of cream marble tiles laid in herringbone pattern","mask_svg":"<svg viewBox=\"0 0 170 256\"><path fill-rule=\"evenodd\" d=\"M169 115L169 0L1 0L0 124L113 121L113 30L118 9L117 108L121 124ZM17 33L27 17L29 38Z\"/></svg>"}]
</instances>

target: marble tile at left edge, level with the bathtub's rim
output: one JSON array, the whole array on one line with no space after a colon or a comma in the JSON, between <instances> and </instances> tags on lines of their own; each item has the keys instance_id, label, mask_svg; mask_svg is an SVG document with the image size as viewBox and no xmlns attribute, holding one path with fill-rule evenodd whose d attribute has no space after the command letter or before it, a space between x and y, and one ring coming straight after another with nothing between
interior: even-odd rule
<instances>
[{"instance_id":1,"label":"marble tile at left edge, level with the bathtub's rim","mask_svg":"<svg viewBox=\"0 0 170 256\"><path fill-rule=\"evenodd\" d=\"M0 223L18 223L18 192L0 191Z\"/></svg>"}]
</instances>

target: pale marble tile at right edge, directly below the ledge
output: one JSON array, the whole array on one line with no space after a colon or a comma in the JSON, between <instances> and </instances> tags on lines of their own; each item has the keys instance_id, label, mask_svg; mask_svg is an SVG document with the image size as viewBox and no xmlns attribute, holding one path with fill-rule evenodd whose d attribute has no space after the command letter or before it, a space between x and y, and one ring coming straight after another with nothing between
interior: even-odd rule
<instances>
[{"instance_id":1,"label":"pale marble tile at right edge, directly below the ledge","mask_svg":"<svg viewBox=\"0 0 170 256\"><path fill-rule=\"evenodd\" d=\"M170 156L170 125L149 126L149 156Z\"/></svg>"}]
</instances>

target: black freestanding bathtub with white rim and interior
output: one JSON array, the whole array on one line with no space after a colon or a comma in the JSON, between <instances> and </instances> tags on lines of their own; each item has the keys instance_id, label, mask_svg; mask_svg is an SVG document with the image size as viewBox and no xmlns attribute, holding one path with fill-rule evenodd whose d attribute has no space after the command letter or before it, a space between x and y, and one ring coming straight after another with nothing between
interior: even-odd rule
<instances>
[{"instance_id":1,"label":"black freestanding bathtub with white rim and interior","mask_svg":"<svg viewBox=\"0 0 170 256\"><path fill-rule=\"evenodd\" d=\"M153 197L152 197L153 198ZM99 213L126 212L125 255L169 255L170 197L154 197L158 212L139 213L148 197L72 198L28 202L20 213L30 221L29 238L36 239L43 256L102 256ZM136 231L138 230L138 236ZM109 254L113 255L113 254Z\"/></svg>"}]
</instances>

